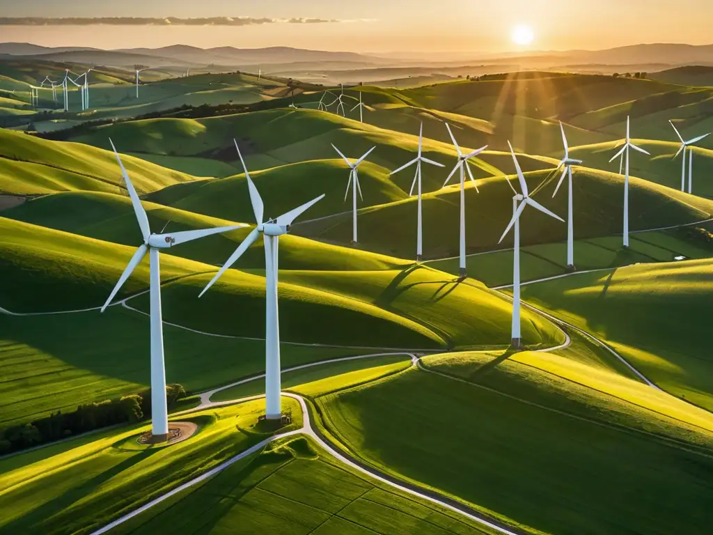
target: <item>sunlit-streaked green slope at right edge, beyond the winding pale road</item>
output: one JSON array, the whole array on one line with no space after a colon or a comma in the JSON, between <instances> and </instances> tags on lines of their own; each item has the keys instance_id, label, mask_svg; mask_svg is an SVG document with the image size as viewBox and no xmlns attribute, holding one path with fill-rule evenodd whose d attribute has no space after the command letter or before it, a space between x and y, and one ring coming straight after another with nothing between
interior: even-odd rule
<instances>
[{"instance_id":1,"label":"sunlit-streaked green slope at right edge, beyond the winding pale road","mask_svg":"<svg viewBox=\"0 0 713 535\"><path fill-rule=\"evenodd\" d=\"M607 340L663 389L713 409L712 272L709 259L637 265L530 285L523 295Z\"/></svg>"}]
</instances>

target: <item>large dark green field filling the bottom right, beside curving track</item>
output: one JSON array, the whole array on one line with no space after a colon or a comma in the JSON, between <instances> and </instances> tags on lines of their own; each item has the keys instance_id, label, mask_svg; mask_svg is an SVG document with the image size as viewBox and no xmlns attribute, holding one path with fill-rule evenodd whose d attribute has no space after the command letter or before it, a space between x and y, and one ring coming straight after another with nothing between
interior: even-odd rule
<instances>
[{"instance_id":1,"label":"large dark green field filling the bottom right, beside curving track","mask_svg":"<svg viewBox=\"0 0 713 535\"><path fill-rule=\"evenodd\" d=\"M481 377L410 371L316 402L366 462L530 530L704 532L709 432L507 360Z\"/></svg>"}]
</instances>

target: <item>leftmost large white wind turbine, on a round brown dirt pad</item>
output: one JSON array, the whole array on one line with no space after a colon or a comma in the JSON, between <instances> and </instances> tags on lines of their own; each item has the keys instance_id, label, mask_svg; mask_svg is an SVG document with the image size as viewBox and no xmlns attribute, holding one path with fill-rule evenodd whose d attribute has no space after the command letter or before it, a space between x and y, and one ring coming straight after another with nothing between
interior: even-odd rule
<instances>
[{"instance_id":1,"label":"leftmost large white wind turbine, on a round brown dirt pad","mask_svg":"<svg viewBox=\"0 0 713 535\"><path fill-rule=\"evenodd\" d=\"M111 139L109 140L109 143L111 143L111 148L116 155L116 161L118 161L119 167L121 168L121 174L123 175L126 189L128 190L129 197L131 198L131 204L133 205L136 220L138 220L138 226L141 229L143 243L133 254L131 260L129 260L129 263L124 272L121 274L121 277L119 277L116 286L111 291L109 298L104 303L104 306L101 307L101 311L104 312L104 310L106 310L106 307L109 306L109 303L111 303L111 300L113 300L114 296L120 290L124 282L126 282L141 260L143 260L146 253L148 253L150 260L149 291L151 318L151 434L153 435L152 442L165 442L165 440L168 439L168 409L166 407L166 377L163 360L163 322L161 320L161 275L159 251L174 247L175 245L180 245L181 243L198 240L198 238L205 238L205 236L210 236L212 234L224 233L228 230L242 228L245 225L232 225L230 227L207 228L202 230L184 230L183 232L169 234L151 233L148 225L148 217L146 216L146 212L141 205L141 201L136 194L136 190L134 189L129 176L126 173L124 165L121 162L119 153L116 151Z\"/></svg>"}]
</instances>

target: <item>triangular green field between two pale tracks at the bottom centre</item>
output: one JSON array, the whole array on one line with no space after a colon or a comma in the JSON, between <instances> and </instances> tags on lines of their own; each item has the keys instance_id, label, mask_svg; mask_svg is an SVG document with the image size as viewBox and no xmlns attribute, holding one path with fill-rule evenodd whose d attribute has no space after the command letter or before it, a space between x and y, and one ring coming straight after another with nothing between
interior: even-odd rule
<instances>
[{"instance_id":1,"label":"triangular green field between two pale tracks at the bottom centre","mask_svg":"<svg viewBox=\"0 0 713 535\"><path fill-rule=\"evenodd\" d=\"M226 498L226 496L230 496ZM149 534L166 522L180 529L252 534L394 535L491 533L469 519L394 491L345 467L306 438L267 449L198 489L181 493L116 532Z\"/></svg>"}]
</instances>

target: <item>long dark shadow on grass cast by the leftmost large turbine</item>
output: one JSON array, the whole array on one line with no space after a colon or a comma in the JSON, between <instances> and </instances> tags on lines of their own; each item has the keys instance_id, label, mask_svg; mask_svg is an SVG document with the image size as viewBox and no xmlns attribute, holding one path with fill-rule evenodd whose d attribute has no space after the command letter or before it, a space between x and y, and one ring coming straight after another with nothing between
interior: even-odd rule
<instances>
[{"instance_id":1,"label":"long dark shadow on grass cast by the leftmost large turbine","mask_svg":"<svg viewBox=\"0 0 713 535\"><path fill-rule=\"evenodd\" d=\"M114 467L111 467L108 470L103 470L92 479L85 481L80 486L69 489L64 494L57 496L55 499L46 501L39 507L27 511L26 514L19 516L9 524L6 524L0 531L7 534L42 533L43 531L35 531L39 527L38 522L44 523L52 521L53 516L60 514L62 511L66 511L76 502L86 498L95 489L101 486L101 484L106 483L106 481L118 476L121 472L130 469L135 464L144 461L158 451L158 449L149 449L146 452L139 452L131 457L128 457L128 459L124 459ZM71 472L71 470L72 469L70 469L69 472ZM67 474L67 476L71 477L71 474ZM62 476L61 474L56 474L54 477Z\"/></svg>"}]
</instances>

